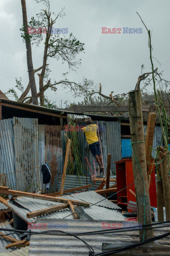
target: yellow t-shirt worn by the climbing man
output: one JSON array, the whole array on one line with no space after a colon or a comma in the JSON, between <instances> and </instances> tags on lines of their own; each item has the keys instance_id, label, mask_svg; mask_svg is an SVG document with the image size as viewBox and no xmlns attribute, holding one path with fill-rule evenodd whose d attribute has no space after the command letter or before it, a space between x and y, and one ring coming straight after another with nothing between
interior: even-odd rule
<instances>
[{"instance_id":1,"label":"yellow t-shirt worn by the climbing man","mask_svg":"<svg viewBox=\"0 0 170 256\"><path fill-rule=\"evenodd\" d=\"M82 129L84 130L89 145L95 143L96 141L99 141L97 137L98 126L96 124L89 124L86 127L83 127Z\"/></svg>"}]
</instances>

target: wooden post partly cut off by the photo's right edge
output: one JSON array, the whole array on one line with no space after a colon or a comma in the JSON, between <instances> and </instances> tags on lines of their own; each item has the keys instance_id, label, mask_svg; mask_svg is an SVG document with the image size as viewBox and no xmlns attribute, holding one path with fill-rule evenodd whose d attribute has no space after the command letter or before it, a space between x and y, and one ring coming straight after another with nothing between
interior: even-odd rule
<instances>
[{"instance_id":1,"label":"wooden post partly cut off by the photo's right edge","mask_svg":"<svg viewBox=\"0 0 170 256\"><path fill-rule=\"evenodd\" d=\"M159 147L158 155L160 159L160 172L163 183L166 221L170 220L170 184L167 171L167 154L168 151L165 151L163 147Z\"/></svg>"}]
</instances>

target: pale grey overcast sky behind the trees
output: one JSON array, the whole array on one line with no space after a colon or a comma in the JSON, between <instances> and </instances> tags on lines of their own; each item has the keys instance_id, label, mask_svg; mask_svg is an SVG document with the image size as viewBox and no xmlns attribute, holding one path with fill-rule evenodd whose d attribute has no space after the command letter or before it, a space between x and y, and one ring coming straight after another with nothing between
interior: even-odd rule
<instances>
[{"instance_id":1,"label":"pale grey overcast sky behind the trees","mask_svg":"<svg viewBox=\"0 0 170 256\"><path fill-rule=\"evenodd\" d=\"M42 4L26 0L28 20L35 16ZM148 35L137 15L137 11L152 30L153 56L155 67L164 70L164 77L170 78L169 69L169 0L50 0L52 12L56 14L65 7L65 17L58 19L56 28L68 28L80 42L85 43L85 53L80 54L82 65L76 72L71 71L70 81L80 82L83 77L101 82L103 93L127 93L134 89L141 73L141 64L146 72L151 71L148 49ZM28 84L25 44L20 36L22 9L20 0L0 1L1 22L1 87L6 92L15 86L15 77L22 77L23 85ZM101 34L101 27L142 28L142 34ZM43 62L43 44L32 47L33 67ZM62 73L68 71L61 61L48 60L52 69L51 78L60 81ZM38 76L36 75L38 88ZM59 107L64 102L77 102L70 93L58 87L56 94L46 93L48 98ZM13 98L10 98L11 100ZM64 107L64 106L63 106Z\"/></svg>"}]
</instances>

